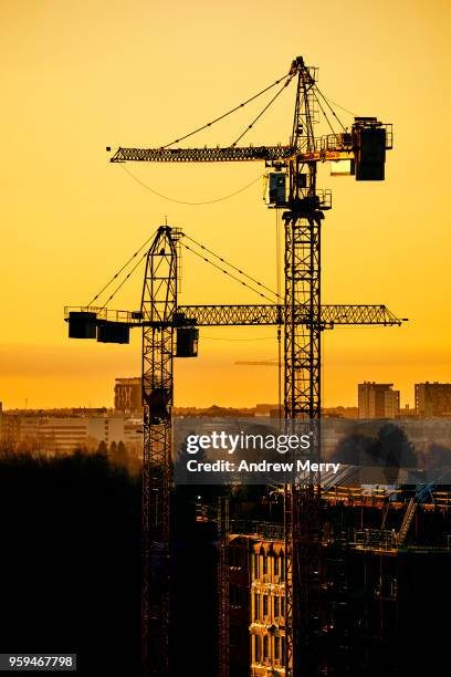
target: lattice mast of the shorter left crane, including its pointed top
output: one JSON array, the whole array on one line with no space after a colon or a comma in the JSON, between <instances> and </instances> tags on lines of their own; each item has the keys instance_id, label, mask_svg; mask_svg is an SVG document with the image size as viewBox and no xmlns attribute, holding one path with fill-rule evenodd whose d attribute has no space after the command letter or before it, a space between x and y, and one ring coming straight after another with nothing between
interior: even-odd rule
<instances>
[{"instance_id":1,"label":"lattice mast of the shorter left crane, including its pointed top","mask_svg":"<svg viewBox=\"0 0 451 677\"><path fill-rule=\"evenodd\" d=\"M172 481L174 315L177 231L158 229L149 249L141 299L143 326L143 675L169 673L170 494Z\"/></svg>"}]
</instances>

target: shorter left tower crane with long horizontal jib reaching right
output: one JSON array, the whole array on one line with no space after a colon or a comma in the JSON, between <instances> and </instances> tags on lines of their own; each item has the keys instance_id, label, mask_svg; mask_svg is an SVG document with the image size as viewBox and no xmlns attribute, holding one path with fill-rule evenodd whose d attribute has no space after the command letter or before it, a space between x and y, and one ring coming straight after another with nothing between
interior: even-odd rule
<instances>
[{"instance_id":1,"label":"shorter left tower crane with long horizontal jib reaching right","mask_svg":"<svg viewBox=\"0 0 451 677\"><path fill-rule=\"evenodd\" d=\"M170 502L172 482L171 405L174 360L195 357L199 330L211 326L280 326L285 324L282 304L178 303L177 270L180 264L180 229L160 226L146 257L140 309L113 310L106 306L67 306L65 320L71 338L127 344L129 332L143 331L143 584L141 647L143 676L166 676L170 643ZM297 321L310 325L308 312L300 310ZM336 326L399 326L385 305L322 305L322 331ZM228 522L224 514L222 523ZM222 540L221 552L224 555ZM221 560L222 561L222 560ZM222 574L227 575L222 566ZM222 582L222 590L227 585ZM222 613L227 610L222 605ZM227 618L223 618L227 625ZM221 644L221 674L227 674L228 647Z\"/></svg>"}]
</instances>

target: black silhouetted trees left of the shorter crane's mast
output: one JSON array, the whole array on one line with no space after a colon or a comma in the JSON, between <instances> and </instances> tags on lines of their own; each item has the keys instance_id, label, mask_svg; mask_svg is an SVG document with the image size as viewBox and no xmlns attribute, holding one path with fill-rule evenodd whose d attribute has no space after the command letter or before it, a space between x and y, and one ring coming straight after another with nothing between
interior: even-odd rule
<instances>
[{"instance_id":1,"label":"black silhouetted trees left of the shorter crane's mast","mask_svg":"<svg viewBox=\"0 0 451 677\"><path fill-rule=\"evenodd\" d=\"M106 456L0 456L0 650L139 675L140 479Z\"/></svg>"}]
</instances>

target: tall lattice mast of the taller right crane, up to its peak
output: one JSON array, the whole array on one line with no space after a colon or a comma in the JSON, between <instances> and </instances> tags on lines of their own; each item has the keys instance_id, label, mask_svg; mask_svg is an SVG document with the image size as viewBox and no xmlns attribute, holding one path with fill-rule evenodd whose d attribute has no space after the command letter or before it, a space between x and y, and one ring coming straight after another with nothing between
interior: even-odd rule
<instances>
[{"instance_id":1,"label":"tall lattice mast of the taller right crane, up to its peak","mask_svg":"<svg viewBox=\"0 0 451 677\"><path fill-rule=\"evenodd\" d=\"M302 58L297 69L296 102L290 159L290 187L285 225L284 414L304 419L307 428L321 416L321 226L324 218L316 192L316 162L303 163L298 154L315 150L314 72ZM300 316L307 317L301 323ZM310 456L319 460L319 428L313 426ZM284 489L285 670L313 675L317 665L312 637L317 627L319 593L321 493L317 487L287 485Z\"/></svg>"}]
</instances>

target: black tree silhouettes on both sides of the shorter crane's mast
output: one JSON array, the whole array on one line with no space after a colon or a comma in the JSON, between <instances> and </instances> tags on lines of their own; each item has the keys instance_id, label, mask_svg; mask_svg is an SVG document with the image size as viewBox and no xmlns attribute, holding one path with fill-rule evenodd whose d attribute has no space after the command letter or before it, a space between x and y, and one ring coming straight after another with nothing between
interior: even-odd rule
<instances>
[{"instance_id":1,"label":"black tree silhouettes on both sides of the shorter crane's mast","mask_svg":"<svg viewBox=\"0 0 451 677\"><path fill-rule=\"evenodd\" d=\"M1 653L66 652L77 674L139 677L141 476L109 451L0 450ZM214 525L196 520L198 491L174 497L171 664L178 674L195 660L210 677L217 543Z\"/></svg>"}]
</instances>

